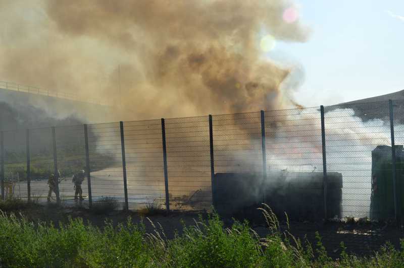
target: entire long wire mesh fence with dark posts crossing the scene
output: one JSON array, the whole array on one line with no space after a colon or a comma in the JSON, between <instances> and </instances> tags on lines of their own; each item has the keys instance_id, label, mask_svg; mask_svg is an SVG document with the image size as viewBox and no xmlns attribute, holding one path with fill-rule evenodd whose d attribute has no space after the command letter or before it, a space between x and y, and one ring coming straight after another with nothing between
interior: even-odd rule
<instances>
[{"instance_id":1,"label":"entire long wire mesh fence with dark posts crossing the scene","mask_svg":"<svg viewBox=\"0 0 404 268\"><path fill-rule=\"evenodd\" d=\"M265 202L296 219L398 218L403 108L389 101L2 131L2 196L59 195L67 204L81 196L89 206L112 197L125 209L229 215ZM81 170L82 194L72 181Z\"/></svg>"}]
</instances>

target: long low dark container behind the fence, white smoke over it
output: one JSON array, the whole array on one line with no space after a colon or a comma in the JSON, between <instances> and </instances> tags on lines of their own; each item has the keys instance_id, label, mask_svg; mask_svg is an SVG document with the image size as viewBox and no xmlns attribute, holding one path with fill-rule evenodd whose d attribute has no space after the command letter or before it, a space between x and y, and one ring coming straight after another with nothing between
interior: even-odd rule
<instances>
[{"instance_id":1,"label":"long low dark container behind the fence, white smoke over it","mask_svg":"<svg viewBox=\"0 0 404 268\"><path fill-rule=\"evenodd\" d=\"M222 217L259 216L264 202L284 219L315 221L324 218L322 172L216 173L213 181L215 209ZM342 175L327 175L327 218L341 216Z\"/></svg>"}]
</instances>

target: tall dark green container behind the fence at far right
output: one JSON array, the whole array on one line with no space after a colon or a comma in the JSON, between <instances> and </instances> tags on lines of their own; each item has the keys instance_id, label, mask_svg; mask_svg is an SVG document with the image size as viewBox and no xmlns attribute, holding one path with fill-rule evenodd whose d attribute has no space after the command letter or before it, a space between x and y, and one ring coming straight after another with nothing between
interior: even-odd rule
<instances>
[{"instance_id":1,"label":"tall dark green container behind the fence at far right","mask_svg":"<svg viewBox=\"0 0 404 268\"><path fill-rule=\"evenodd\" d=\"M404 148L395 146L397 214L404 212ZM370 219L374 221L394 218L394 188L391 147L378 146L372 151L372 193Z\"/></svg>"}]
</instances>

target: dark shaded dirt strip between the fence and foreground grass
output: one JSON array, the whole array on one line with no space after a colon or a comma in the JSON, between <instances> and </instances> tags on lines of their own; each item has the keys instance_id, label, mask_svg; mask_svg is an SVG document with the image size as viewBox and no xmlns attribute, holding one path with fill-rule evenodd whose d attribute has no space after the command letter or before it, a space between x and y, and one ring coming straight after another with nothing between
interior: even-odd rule
<instances>
[{"instance_id":1,"label":"dark shaded dirt strip between the fence and foreground grass","mask_svg":"<svg viewBox=\"0 0 404 268\"><path fill-rule=\"evenodd\" d=\"M144 222L146 232L154 231L154 227L149 221L144 219L144 215L138 212L114 211L107 215L94 215L88 210L77 208L57 208L55 206L36 206L30 210L23 211L22 214L29 221L45 221L53 222L58 226L59 222L68 221L69 217L80 217L85 223L90 222L92 225L102 228L105 220L111 220L116 226L118 223L125 223L130 216L133 223ZM194 220L198 220L201 215L204 219L208 217L206 212L171 212L166 215L164 212L155 215L147 215L147 217L158 226L163 227L163 230L168 239L172 239L177 231L182 233L182 222L186 226L194 225ZM225 226L230 226L232 220L224 219ZM295 237L304 240L305 235L312 245L315 245L317 240L315 232L318 231L322 237L324 246L329 255L337 258L340 254L340 242L343 241L347 247L347 251L357 255L369 255L380 249L380 246L385 242L391 242L395 247L399 248L400 238L404 238L402 228L386 223L371 224L371 223L343 223L343 222L290 222L290 233ZM285 224L281 224L281 229L286 229ZM264 224L252 224L251 229L255 230L261 237L265 237L269 230Z\"/></svg>"}]
</instances>

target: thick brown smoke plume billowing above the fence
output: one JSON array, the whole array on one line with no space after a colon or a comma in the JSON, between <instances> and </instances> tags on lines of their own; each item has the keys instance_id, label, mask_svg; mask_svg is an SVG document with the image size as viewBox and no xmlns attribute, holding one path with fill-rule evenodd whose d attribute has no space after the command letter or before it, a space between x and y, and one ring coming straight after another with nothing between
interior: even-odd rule
<instances>
[{"instance_id":1,"label":"thick brown smoke plume billowing above the fence","mask_svg":"<svg viewBox=\"0 0 404 268\"><path fill-rule=\"evenodd\" d=\"M293 105L280 90L288 70L259 46L261 32L305 41L298 21L282 20L290 5L0 0L0 80L122 103L125 120Z\"/></svg>"}]
</instances>

